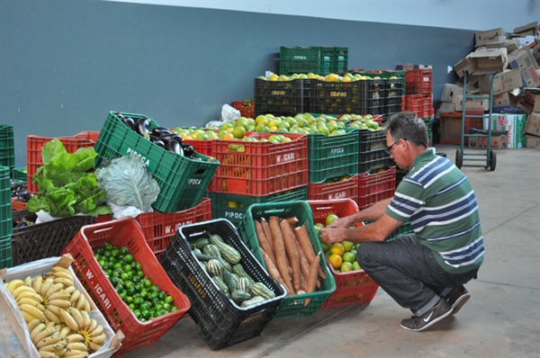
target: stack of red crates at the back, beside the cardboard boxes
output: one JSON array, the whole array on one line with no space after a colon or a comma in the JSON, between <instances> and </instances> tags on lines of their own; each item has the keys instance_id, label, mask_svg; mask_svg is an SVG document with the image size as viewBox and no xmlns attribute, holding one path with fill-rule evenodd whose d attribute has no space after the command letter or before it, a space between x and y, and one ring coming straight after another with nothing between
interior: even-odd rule
<instances>
[{"instance_id":1,"label":"stack of red crates at the back, beside the cardboard boxes","mask_svg":"<svg viewBox=\"0 0 540 358\"><path fill-rule=\"evenodd\" d=\"M405 111L415 112L419 118L433 116L433 74L430 66L405 72Z\"/></svg>"}]
</instances>

